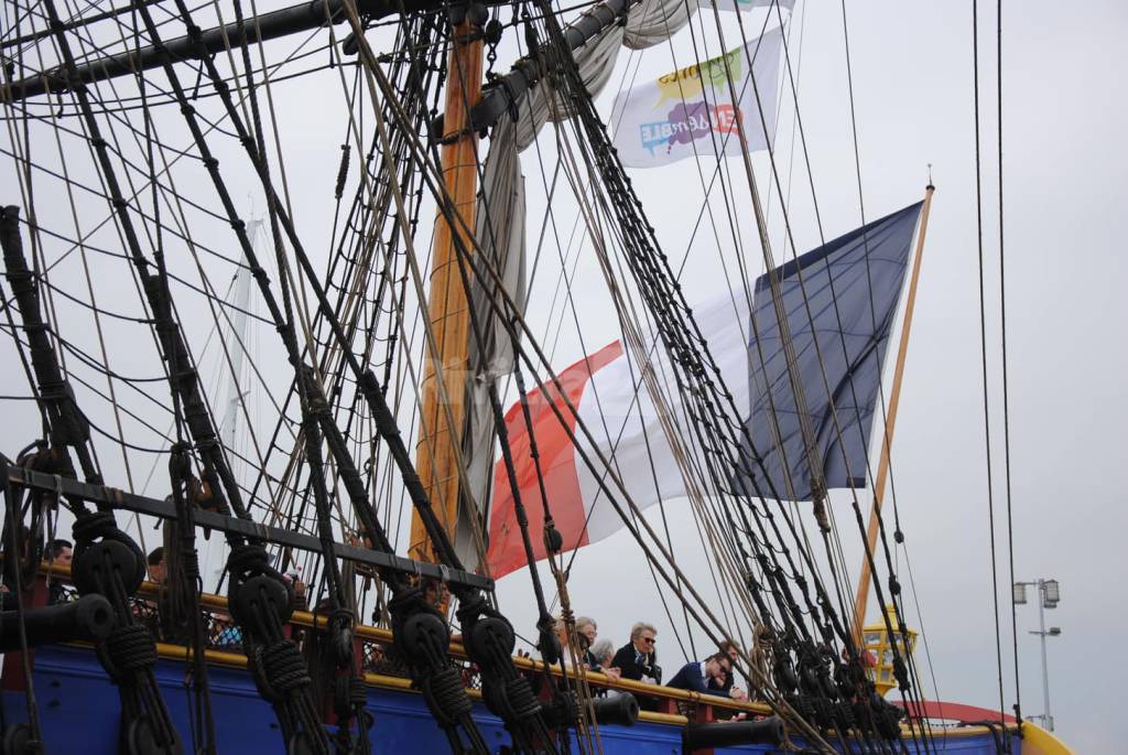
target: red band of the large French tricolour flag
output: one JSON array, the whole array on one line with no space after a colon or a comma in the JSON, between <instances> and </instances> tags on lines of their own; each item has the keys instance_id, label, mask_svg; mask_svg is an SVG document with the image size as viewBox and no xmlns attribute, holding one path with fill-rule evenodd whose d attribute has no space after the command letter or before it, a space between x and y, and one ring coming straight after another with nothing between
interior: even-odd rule
<instances>
[{"instance_id":1,"label":"red band of the large French tricolour flag","mask_svg":"<svg viewBox=\"0 0 1128 755\"><path fill-rule=\"evenodd\" d=\"M623 345L616 341L559 374L564 394L573 406L580 406L583 390L591 381L591 376L622 355ZM559 401L561 394L556 386L548 383L545 387L547 394L540 390L528 394L529 414L532 419L532 433L537 441L537 453L540 455L540 469L545 477L545 492L553 521L564 537L564 548L572 550L588 544L588 533L584 527L587 511L575 471L575 450L569 440L569 432L575 430L575 418L567 410L567 405ZM553 403L561 409L567 422L567 430L562 427L559 419L553 412ZM544 543L545 511L540 499L540 486L537 483L537 467L529 454L529 432L520 403L513 404L505 413L505 429L509 431L509 442L513 454L517 486L521 493L526 516L529 518L532 553L539 561L547 555ZM517 524L509 474L502 462L494 467L490 547L486 559L494 579L528 565L525 545L521 543L521 528Z\"/></svg>"}]
</instances>

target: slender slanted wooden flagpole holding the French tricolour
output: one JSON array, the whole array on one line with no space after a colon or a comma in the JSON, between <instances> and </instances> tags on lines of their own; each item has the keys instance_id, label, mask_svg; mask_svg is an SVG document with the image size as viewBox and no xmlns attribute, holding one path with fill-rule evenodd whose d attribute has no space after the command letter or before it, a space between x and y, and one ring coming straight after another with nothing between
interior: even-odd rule
<instances>
[{"instance_id":1,"label":"slender slanted wooden flagpole holding the French tricolour","mask_svg":"<svg viewBox=\"0 0 1128 755\"><path fill-rule=\"evenodd\" d=\"M925 188L924 208L920 210L920 232L917 235L916 258L913 262L913 276L909 279L909 291L905 299L905 322L901 323L901 341L897 350L897 366L893 368L893 387L889 392L889 411L885 414L885 433L881 441L881 460L878 463L878 479L873 485L873 506L870 508L870 526L865 533L866 553L876 553L878 532L881 521L881 502L885 494L885 477L889 474L889 449L893 444L893 425L897 422L897 405L901 398L901 378L905 375L905 357L909 350L909 331L913 327L913 308L916 306L917 281L920 279L920 257L924 254L924 237L928 230L928 211L932 209L932 194L936 187L931 183ZM857 578L857 592L854 594L854 646L862 647L862 624L865 622L865 604L870 598L870 582L873 572L870 559L862 556L862 572Z\"/></svg>"}]
</instances>

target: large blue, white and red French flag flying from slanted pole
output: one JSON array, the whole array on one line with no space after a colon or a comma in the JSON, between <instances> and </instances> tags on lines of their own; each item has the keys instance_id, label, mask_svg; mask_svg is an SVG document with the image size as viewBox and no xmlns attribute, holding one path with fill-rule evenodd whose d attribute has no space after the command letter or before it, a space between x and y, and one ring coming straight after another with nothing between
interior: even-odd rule
<instances>
[{"instance_id":1,"label":"large blue, white and red French flag flying from slanted pole","mask_svg":"<svg viewBox=\"0 0 1128 755\"><path fill-rule=\"evenodd\" d=\"M776 269L808 416L829 488L865 484L878 385L919 213L920 204L914 204ZM766 483L770 480L781 498L785 498L788 490L785 480L790 477L794 498L805 500L810 495L810 467L767 278L758 279L752 290L750 311L747 297L734 298L728 292L694 309L767 472L766 479L759 469L750 479L746 472L730 469L730 490L750 492L755 483L755 488L767 494ZM754 317L759 343L752 336ZM819 368L816 342L826 380ZM662 351L661 346L656 351ZM596 436L597 445L638 508L686 495L685 482L658 413L641 384L638 365L629 362L618 341L572 365L558 377L563 392ZM835 430L827 383L841 438ZM547 393L528 394L532 433L553 519L564 537L565 550L572 550L611 535L623 527L623 520L553 411L555 403L562 409L569 429L575 429L575 420L559 392L552 384L546 385ZM776 409L774 416L767 409L769 393ZM675 411L684 415L677 407ZM538 560L544 559L544 510L520 404L509 410L505 423L534 552ZM782 449L774 440L776 432L782 438ZM784 457L790 466L784 464ZM527 565L502 462L494 469L487 561L495 578Z\"/></svg>"}]
</instances>

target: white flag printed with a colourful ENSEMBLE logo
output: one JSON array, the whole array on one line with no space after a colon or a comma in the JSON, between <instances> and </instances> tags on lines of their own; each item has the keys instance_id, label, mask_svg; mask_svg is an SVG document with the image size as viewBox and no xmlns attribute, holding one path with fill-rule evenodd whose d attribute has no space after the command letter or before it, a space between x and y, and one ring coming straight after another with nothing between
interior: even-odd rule
<instances>
[{"instance_id":1,"label":"white flag printed with a colourful ENSEMBLE logo","mask_svg":"<svg viewBox=\"0 0 1128 755\"><path fill-rule=\"evenodd\" d=\"M738 123L749 150L766 149L765 125L768 134L775 131L782 41L775 28L724 55L620 91L611 128L623 164L653 168L695 156L739 155ZM764 106L763 124L750 73Z\"/></svg>"}]
</instances>

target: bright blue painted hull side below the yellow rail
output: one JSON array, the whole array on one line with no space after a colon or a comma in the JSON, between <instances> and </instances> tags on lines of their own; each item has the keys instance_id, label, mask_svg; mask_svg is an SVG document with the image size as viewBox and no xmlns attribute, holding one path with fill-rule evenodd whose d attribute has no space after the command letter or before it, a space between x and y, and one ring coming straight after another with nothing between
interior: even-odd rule
<instances>
[{"instance_id":1,"label":"bright blue painted hull side below the yellow rail","mask_svg":"<svg viewBox=\"0 0 1128 755\"><path fill-rule=\"evenodd\" d=\"M250 676L244 670L218 666L210 667L208 674L219 752L238 755L282 753L274 712L258 696ZM33 681L47 755L116 753L117 690L92 652L60 646L39 648L35 653ZM161 660L157 681L184 737L185 752L191 752L188 706L192 692L185 686L185 665ZM450 752L421 695L371 687L368 704L376 716L370 731L373 754L441 755ZM23 692L5 692L5 712L10 721L26 720ZM481 704L475 706L475 719L493 752L501 752L509 744L502 722ZM607 755L679 755L682 752L681 728L672 725L640 721L633 727L601 726L599 736ZM909 753L926 752L922 744L906 744ZM768 746L742 746L712 752L726 755L781 750ZM989 735L944 738L937 730L927 752L996 755L997 748ZM1017 738L1013 740L1012 752L1016 755L1022 752Z\"/></svg>"}]
</instances>

